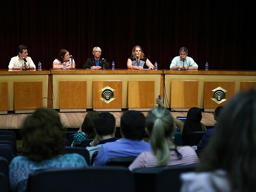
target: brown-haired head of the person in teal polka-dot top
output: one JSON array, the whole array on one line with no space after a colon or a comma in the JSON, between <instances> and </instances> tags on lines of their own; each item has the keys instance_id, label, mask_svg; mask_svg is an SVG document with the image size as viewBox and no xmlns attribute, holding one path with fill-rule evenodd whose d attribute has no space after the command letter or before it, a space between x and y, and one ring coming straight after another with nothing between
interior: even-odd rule
<instances>
[{"instance_id":1,"label":"brown-haired head of the person in teal polka-dot top","mask_svg":"<svg viewBox=\"0 0 256 192\"><path fill-rule=\"evenodd\" d=\"M99 114L98 111L93 110L93 111L89 111L85 116L85 119L82 124L82 132L88 135L87 137L88 139L93 139L95 137L93 119L98 114Z\"/></svg>"}]
</instances>

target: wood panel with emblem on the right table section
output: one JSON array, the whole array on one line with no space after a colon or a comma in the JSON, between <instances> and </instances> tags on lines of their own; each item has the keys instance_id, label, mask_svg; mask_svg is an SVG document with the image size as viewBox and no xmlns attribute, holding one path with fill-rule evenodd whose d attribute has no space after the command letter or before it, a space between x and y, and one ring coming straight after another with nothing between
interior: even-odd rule
<instances>
[{"instance_id":1,"label":"wood panel with emblem on the right table section","mask_svg":"<svg viewBox=\"0 0 256 192\"><path fill-rule=\"evenodd\" d=\"M225 92L225 101L218 104L212 100L213 93L216 88L223 88L226 90ZM216 109L218 106L225 105L228 100L235 94L235 82L213 82L213 81L205 81L204 82L204 110L207 111L208 109Z\"/></svg>"}]
</instances>

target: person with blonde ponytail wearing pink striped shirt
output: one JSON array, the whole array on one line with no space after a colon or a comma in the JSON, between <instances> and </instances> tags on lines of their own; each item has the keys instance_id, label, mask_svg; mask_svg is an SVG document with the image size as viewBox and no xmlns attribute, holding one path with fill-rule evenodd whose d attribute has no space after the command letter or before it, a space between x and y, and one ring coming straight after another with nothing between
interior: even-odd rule
<instances>
[{"instance_id":1,"label":"person with blonde ponytail wearing pink striped shirt","mask_svg":"<svg viewBox=\"0 0 256 192\"><path fill-rule=\"evenodd\" d=\"M199 163L196 152L190 146L176 146L173 143L175 122L170 111L164 107L154 107L146 117L146 132L150 137L153 152L142 152L129 169L178 166Z\"/></svg>"}]
</instances>

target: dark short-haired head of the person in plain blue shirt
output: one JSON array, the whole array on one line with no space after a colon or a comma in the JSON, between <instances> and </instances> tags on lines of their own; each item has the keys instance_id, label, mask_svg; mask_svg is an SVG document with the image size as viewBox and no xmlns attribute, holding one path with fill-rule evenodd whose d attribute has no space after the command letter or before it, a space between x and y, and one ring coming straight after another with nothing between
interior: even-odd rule
<instances>
[{"instance_id":1,"label":"dark short-haired head of the person in plain blue shirt","mask_svg":"<svg viewBox=\"0 0 256 192\"><path fill-rule=\"evenodd\" d=\"M126 111L121 116L123 137L130 140L142 140L145 135L145 116L140 111Z\"/></svg>"}]
</instances>

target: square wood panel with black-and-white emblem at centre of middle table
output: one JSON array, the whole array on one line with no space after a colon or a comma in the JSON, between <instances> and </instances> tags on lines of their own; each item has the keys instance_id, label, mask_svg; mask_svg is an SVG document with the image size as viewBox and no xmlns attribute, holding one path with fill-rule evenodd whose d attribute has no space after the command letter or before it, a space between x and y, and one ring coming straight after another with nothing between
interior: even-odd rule
<instances>
[{"instance_id":1,"label":"square wood panel with black-and-white emblem at centre of middle table","mask_svg":"<svg viewBox=\"0 0 256 192\"><path fill-rule=\"evenodd\" d=\"M93 109L119 109L122 108L122 81L93 81ZM110 100L102 100L105 98L105 90L110 90L113 93L113 98ZM106 101L106 102L105 102Z\"/></svg>"}]
</instances>

